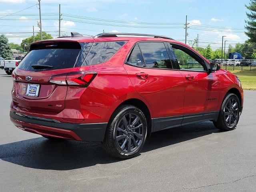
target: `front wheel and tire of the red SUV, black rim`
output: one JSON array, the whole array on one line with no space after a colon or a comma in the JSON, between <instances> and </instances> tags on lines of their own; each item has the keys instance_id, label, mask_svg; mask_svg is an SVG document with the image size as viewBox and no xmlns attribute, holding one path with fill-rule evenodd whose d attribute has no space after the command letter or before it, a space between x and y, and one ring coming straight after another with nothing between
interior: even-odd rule
<instances>
[{"instance_id":1,"label":"front wheel and tire of the red SUV, black rim","mask_svg":"<svg viewBox=\"0 0 256 192\"><path fill-rule=\"evenodd\" d=\"M240 118L240 111L240 101L236 94L227 93L222 102L218 120L213 122L214 126L223 131L234 130Z\"/></svg>"}]
</instances>

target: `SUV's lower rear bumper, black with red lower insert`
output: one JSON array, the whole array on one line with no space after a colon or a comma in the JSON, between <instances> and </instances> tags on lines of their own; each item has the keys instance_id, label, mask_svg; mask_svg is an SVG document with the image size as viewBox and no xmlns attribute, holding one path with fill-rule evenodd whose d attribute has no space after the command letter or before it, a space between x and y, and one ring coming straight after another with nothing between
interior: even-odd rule
<instances>
[{"instance_id":1,"label":"SUV's lower rear bumper, black with red lower insert","mask_svg":"<svg viewBox=\"0 0 256 192\"><path fill-rule=\"evenodd\" d=\"M103 141L108 123L72 124L10 112L13 124L25 131L70 140Z\"/></svg>"}]
</instances>

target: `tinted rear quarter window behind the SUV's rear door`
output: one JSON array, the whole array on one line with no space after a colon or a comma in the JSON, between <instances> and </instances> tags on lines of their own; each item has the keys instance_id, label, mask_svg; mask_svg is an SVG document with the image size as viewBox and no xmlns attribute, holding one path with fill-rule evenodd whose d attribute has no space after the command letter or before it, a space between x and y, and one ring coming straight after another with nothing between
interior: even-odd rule
<instances>
[{"instance_id":1,"label":"tinted rear quarter window behind the SUV's rear door","mask_svg":"<svg viewBox=\"0 0 256 192\"><path fill-rule=\"evenodd\" d=\"M83 66L104 63L109 60L126 42L94 42Z\"/></svg>"}]
</instances>

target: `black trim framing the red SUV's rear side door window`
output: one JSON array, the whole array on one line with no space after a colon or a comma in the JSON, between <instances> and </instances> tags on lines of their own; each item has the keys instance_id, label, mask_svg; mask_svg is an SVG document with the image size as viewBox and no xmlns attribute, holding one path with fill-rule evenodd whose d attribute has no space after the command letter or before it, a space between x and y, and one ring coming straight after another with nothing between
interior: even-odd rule
<instances>
[{"instance_id":1,"label":"black trim framing the red SUV's rear side door window","mask_svg":"<svg viewBox=\"0 0 256 192\"><path fill-rule=\"evenodd\" d=\"M165 48L166 48L166 51L167 51L167 53L168 53L168 56L169 56L170 61L171 61L171 64L172 64L172 62L173 62L172 56L170 56L170 54L169 54L169 52L168 52L169 46L167 45L168 48L166 47L166 44L167 44L168 42L166 42L166 41L152 41L152 40L151 40L151 41L138 41L138 42L136 42L136 43L132 46L132 48L131 48L131 50L129 51L128 55L126 56L126 59L124 60L124 64L130 65L130 66L134 66L134 67L138 67L138 68L147 68L147 69L154 69L154 70L176 70L176 69L173 68L173 64L172 64L172 69L167 69L167 68L152 68L152 67L136 66L136 65L133 65L133 64L131 64L130 62L128 62L128 59L130 58L130 55L132 54L132 51L134 50L134 47L135 47L137 44L143 43L143 42L160 42L160 43L164 43L164 46L165 46ZM169 42L169 43L170 43L170 42ZM138 45L138 47L139 47L139 49L140 49L140 46L139 46L139 45ZM141 49L140 49L140 53L142 54ZM145 58L144 58L143 54L142 54L142 58L143 58L144 64L146 65Z\"/></svg>"}]
</instances>

